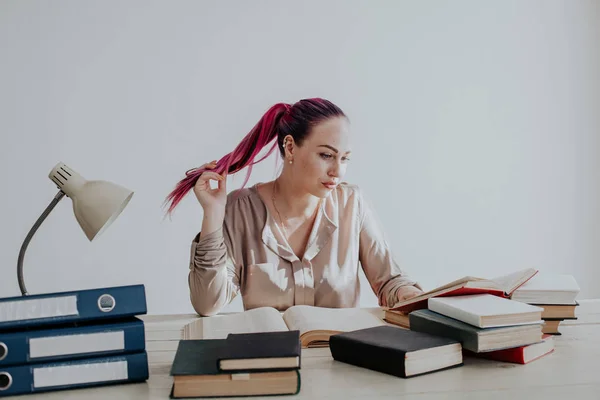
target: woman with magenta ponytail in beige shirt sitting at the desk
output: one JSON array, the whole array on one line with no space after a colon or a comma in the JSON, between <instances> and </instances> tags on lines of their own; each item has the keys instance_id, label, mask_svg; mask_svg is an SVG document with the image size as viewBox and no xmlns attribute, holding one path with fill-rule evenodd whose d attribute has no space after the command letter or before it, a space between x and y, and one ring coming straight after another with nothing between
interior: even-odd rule
<instances>
[{"instance_id":1,"label":"woman with magenta ponytail in beige shirt sitting at the desk","mask_svg":"<svg viewBox=\"0 0 600 400\"><path fill-rule=\"evenodd\" d=\"M348 119L333 103L279 103L233 152L186 173L167 201L170 213L193 188L204 209L188 276L198 314L218 313L240 292L245 309L357 307L359 264L380 306L422 293L395 262L360 189L342 182L349 139ZM285 160L277 179L227 195L227 174L250 167L245 186L252 165L275 148Z\"/></svg>"}]
</instances>

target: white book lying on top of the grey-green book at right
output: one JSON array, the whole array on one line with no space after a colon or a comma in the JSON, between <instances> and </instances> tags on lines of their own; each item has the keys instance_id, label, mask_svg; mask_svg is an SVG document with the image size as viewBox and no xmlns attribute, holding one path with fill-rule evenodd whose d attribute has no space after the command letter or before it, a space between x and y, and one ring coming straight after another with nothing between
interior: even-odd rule
<instances>
[{"instance_id":1,"label":"white book lying on top of the grey-green book at right","mask_svg":"<svg viewBox=\"0 0 600 400\"><path fill-rule=\"evenodd\" d=\"M544 311L491 294L433 297L428 300L428 308L478 328L539 324L541 329Z\"/></svg>"}]
</instances>

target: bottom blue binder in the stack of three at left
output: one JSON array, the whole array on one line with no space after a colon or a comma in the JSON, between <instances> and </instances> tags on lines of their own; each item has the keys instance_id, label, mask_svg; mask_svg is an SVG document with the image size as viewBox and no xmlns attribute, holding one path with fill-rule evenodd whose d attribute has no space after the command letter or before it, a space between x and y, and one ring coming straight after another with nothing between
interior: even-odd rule
<instances>
[{"instance_id":1,"label":"bottom blue binder in the stack of three at left","mask_svg":"<svg viewBox=\"0 0 600 400\"><path fill-rule=\"evenodd\" d=\"M148 379L146 352L0 369L0 397Z\"/></svg>"}]
</instances>

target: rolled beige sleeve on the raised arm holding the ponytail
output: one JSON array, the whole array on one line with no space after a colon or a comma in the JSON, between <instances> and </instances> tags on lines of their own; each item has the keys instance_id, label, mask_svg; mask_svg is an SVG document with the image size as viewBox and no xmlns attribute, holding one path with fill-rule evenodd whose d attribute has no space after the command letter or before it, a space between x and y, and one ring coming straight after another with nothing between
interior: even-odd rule
<instances>
[{"instance_id":1,"label":"rolled beige sleeve on the raised arm holding the ponytail","mask_svg":"<svg viewBox=\"0 0 600 400\"><path fill-rule=\"evenodd\" d=\"M231 256L227 227L192 241L188 283L190 300L201 316L217 314L240 291L240 268Z\"/></svg>"}]
</instances>

